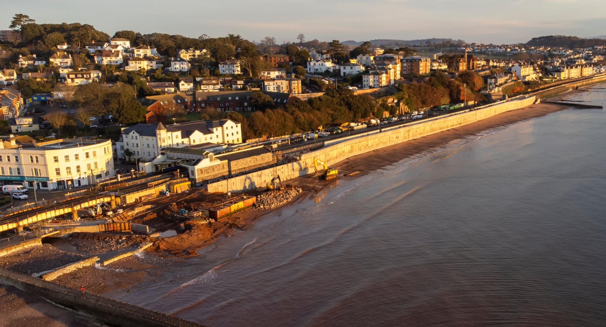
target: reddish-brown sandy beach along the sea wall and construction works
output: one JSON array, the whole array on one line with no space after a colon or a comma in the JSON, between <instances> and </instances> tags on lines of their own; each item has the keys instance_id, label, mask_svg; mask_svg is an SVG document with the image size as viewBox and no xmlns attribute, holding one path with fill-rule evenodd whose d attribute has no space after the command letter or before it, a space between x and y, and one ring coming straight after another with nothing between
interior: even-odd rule
<instances>
[{"instance_id":1,"label":"reddish-brown sandy beach along the sea wall and construction works","mask_svg":"<svg viewBox=\"0 0 606 327\"><path fill-rule=\"evenodd\" d=\"M570 96L573 94L569 95L567 93L566 95ZM564 96L564 94L562 94L562 96ZM463 139L484 131L507 127L508 125L516 124L516 122L545 116L567 108L568 107L566 106L551 104L530 105L526 108L508 111L462 127L453 128L451 130L442 131L441 133L410 140L402 144L353 156L342 162L334 163L331 166L339 169L338 178L356 178L409 157L431 153L444 147L453 140ZM353 177L344 177L345 174L351 173L357 174ZM300 203L305 199L313 198L314 194L327 185L326 182L318 182L318 177L313 174L288 180L288 183L292 183L303 190L303 193L295 197L290 205L296 205L296 203ZM112 263L104 269L90 266L65 274L56 279L55 282L71 288L79 288L80 285L85 285L87 291L95 292L97 294L105 294L116 290L128 291L128 289L136 287L139 283L150 280L158 281L158 271L161 271L162 266L170 265L171 260L173 260L165 259L165 257L177 259L176 257L179 256L196 255L199 248L210 245L212 242L215 242L222 237L229 236L231 231L236 228L246 230L248 223L253 222L256 219L262 219L264 214L271 213L271 211L273 210L255 211L248 209L232 215L228 219L212 222L210 225L196 225L195 223L187 221L171 222L170 228L181 226L181 228L185 228L187 233L191 234L191 237L182 236L185 233L166 237L164 240L160 240L158 244L148 249L145 254L146 260L141 260L138 259L137 256L134 256ZM164 220L157 220L156 216L148 216L144 220L147 220L152 224L157 223L158 226L166 223ZM64 262L73 262L79 257L90 256L90 254L93 254L96 251L87 249L85 246L65 244L65 242L62 246L58 245L59 248L51 244L45 244L41 249L26 249L21 253L4 257L0 261L4 268L25 274L32 274L52 269L52 267L50 267L50 262L47 259L42 260L43 256L52 255L59 263L64 264ZM28 256L38 262L22 264L19 260L13 260L13 258L17 258L18 256ZM150 257L152 258L151 260ZM178 260L187 260L187 258ZM3 306L5 312L10 311L7 308L16 308L16 310L19 310L18 312L24 312L19 315L2 315L2 318L0 318L0 325L16 325L16 323L24 321L22 320L22 317L27 315L28 317L44 317L44 320L41 320L44 322L44 324L42 324L44 326L86 326L85 322L79 321L77 318L73 317L72 312L67 311L66 309L53 309L53 306L48 302L15 288L0 288L0 302L5 303ZM15 320L17 319L15 317L19 317L18 320Z\"/></svg>"}]
</instances>

